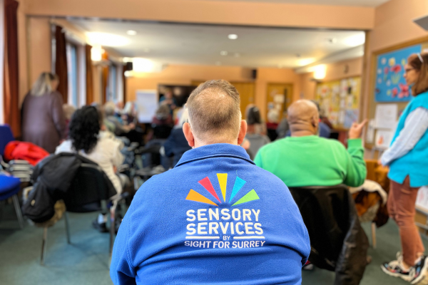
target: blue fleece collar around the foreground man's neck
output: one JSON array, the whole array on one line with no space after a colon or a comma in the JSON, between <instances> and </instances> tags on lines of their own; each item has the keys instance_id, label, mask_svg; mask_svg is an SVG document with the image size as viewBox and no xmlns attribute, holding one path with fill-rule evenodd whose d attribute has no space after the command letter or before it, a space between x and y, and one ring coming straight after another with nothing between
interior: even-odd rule
<instances>
[{"instance_id":1,"label":"blue fleece collar around the foreground man's neck","mask_svg":"<svg viewBox=\"0 0 428 285\"><path fill-rule=\"evenodd\" d=\"M205 160L211 157L235 157L245 160L247 162L255 164L250 160L250 156L244 150L243 147L239 145L230 145L228 143L215 143L213 145L204 145L202 147L193 148L193 150L188 150L184 152L180 161L178 161L175 167L184 165L188 162L193 162L195 160Z\"/></svg>"}]
</instances>

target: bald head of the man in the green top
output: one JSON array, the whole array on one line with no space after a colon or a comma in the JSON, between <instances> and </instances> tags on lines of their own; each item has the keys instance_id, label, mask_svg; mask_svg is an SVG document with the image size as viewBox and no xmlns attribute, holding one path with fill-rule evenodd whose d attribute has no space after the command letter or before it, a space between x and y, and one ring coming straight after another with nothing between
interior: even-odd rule
<instances>
[{"instance_id":1,"label":"bald head of the man in the green top","mask_svg":"<svg viewBox=\"0 0 428 285\"><path fill-rule=\"evenodd\" d=\"M297 100L288 107L288 124L292 136L315 135L319 120L317 105L310 100Z\"/></svg>"}]
</instances>

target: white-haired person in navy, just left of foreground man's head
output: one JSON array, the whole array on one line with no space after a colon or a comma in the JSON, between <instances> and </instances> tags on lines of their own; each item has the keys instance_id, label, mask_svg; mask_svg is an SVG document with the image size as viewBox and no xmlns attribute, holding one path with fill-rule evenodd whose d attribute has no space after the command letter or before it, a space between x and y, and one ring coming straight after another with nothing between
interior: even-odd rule
<instances>
[{"instance_id":1,"label":"white-haired person in navy, just left of foreground man's head","mask_svg":"<svg viewBox=\"0 0 428 285\"><path fill-rule=\"evenodd\" d=\"M163 144L165 156L174 157L173 167L178 163L178 160L180 160L184 152L192 149L192 147L189 146L187 140L185 140L183 133L183 124L187 121L188 110L186 108L184 109L183 114L181 114L180 122L175 125L168 139Z\"/></svg>"}]
</instances>

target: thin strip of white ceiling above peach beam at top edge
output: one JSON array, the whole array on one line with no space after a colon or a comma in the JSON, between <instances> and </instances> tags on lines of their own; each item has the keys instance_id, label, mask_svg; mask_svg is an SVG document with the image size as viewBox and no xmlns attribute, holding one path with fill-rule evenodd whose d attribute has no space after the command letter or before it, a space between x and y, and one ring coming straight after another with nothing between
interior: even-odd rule
<instances>
[{"instance_id":1,"label":"thin strip of white ceiling above peach beam at top edge","mask_svg":"<svg viewBox=\"0 0 428 285\"><path fill-rule=\"evenodd\" d=\"M292 4L376 7L386 3L389 0L205 0L205 1L272 2L272 3L292 3Z\"/></svg>"}]
</instances>

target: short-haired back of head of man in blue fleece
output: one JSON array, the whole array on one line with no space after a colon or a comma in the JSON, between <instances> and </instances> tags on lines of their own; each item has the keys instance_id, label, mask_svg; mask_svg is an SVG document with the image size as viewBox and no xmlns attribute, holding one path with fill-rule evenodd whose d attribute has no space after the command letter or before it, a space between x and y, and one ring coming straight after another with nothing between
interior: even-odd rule
<instances>
[{"instance_id":1,"label":"short-haired back of head of man in blue fleece","mask_svg":"<svg viewBox=\"0 0 428 285\"><path fill-rule=\"evenodd\" d=\"M224 80L200 84L187 101L190 128L198 140L207 144L229 142L240 131L238 90Z\"/></svg>"}]
</instances>

